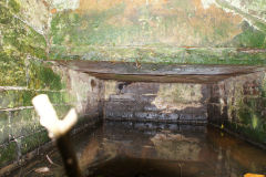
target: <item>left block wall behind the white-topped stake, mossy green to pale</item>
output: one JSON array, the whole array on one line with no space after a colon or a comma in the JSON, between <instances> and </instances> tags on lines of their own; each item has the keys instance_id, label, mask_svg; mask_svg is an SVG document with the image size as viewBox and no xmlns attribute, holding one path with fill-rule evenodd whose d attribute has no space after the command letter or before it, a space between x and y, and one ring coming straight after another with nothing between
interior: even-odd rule
<instances>
[{"instance_id":1,"label":"left block wall behind the white-topped stake, mossy green to pale","mask_svg":"<svg viewBox=\"0 0 266 177\"><path fill-rule=\"evenodd\" d=\"M31 104L33 96L47 94L60 118L75 107L79 121L73 133L101 121L102 81L65 67L45 70L59 76L60 88L0 86L0 174L16 167L30 152L38 153L38 148L50 142Z\"/></svg>"}]
</instances>

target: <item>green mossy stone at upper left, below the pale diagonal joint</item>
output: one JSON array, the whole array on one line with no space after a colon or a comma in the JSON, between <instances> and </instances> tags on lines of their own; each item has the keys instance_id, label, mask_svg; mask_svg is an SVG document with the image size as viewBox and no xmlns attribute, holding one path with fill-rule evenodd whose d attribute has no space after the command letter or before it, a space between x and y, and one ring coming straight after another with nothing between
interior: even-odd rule
<instances>
[{"instance_id":1,"label":"green mossy stone at upper left, below the pale diagonal joint","mask_svg":"<svg viewBox=\"0 0 266 177\"><path fill-rule=\"evenodd\" d=\"M0 30L2 48L6 53L17 53L19 56L45 59L45 40L43 35L25 24L9 7L0 3Z\"/></svg>"}]
</instances>

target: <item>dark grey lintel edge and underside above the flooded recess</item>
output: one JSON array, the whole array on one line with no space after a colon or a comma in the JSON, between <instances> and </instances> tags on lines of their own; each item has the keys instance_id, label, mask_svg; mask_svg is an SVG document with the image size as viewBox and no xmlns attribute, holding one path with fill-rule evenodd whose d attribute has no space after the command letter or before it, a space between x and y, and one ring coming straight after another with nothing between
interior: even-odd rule
<instances>
[{"instance_id":1,"label":"dark grey lintel edge and underside above the flooded recess","mask_svg":"<svg viewBox=\"0 0 266 177\"><path fill-rule=\"evenodd\" d=\"M264 66L190 65L126 62L57 61L75 71L89 73L101 80L160 83L215 83L231 76L266 71Z\"/></svg>"}]
</instances>

